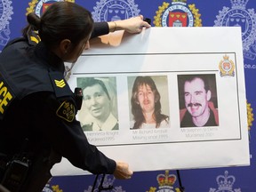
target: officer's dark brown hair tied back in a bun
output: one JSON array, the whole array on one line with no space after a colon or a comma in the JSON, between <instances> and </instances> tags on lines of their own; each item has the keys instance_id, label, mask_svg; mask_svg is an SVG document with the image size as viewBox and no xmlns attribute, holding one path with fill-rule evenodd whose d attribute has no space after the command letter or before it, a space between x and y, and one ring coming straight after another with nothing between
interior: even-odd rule
<instances>
[{"instance_id":1,"label":"officer's dark brown hair tied back in a bun","mask_svg":"<svg viewBox=\"0 0 256 192\"><path fill-rule=\"evenodd\" d=\"M58 46L63 39L69 39L76 46L86 36L90 37L93 28L91 12L69 2L52 4L41 18L31 12L27 20L23 36L27 36L28 30L38 30L42 42L50 49Z\"/></svg>"}]
</instances>

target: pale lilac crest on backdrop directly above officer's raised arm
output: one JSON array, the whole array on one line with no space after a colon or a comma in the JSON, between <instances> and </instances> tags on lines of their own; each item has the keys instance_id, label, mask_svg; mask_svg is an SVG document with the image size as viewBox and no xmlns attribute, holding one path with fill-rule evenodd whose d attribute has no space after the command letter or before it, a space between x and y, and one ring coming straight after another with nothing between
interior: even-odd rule
<instances>
[{"instance_id":1,"label":"pale lilac crest on backdrop directly above officer's raised arm","mask_svg":"<svg viewBox=\"0 0 256 192\"><path fill-rule=\"evenodd\" d=\"M140 13L133 0L100 0L96 4L92 12L94 21L125 20Z\"/></svg>"}]
</instances>

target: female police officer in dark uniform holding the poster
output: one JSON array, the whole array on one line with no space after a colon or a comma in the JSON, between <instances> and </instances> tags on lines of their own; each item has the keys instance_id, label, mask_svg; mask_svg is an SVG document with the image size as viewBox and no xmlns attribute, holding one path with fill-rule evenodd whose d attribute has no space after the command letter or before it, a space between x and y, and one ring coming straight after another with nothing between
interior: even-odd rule
<instances>
[{"instance_id":1,"label":"female police officer in dark uniform holding the poster","mask_svg":"<svg viewBox=\"0 0 256 192\"><path fill-rule=\"evenodd\" d=\"M141 26L150 27L142 19L93 26L90 12L68 2L52 4L41 19L35 13L28 15L23 37L7 44L0 54L0 164L6 188L42 191L61 156L92 173L131 178L128 164L109 159L88 143L63 74L64 61L76 62L91 37L116 29L140 33ZM31 28L38 30L39 44L26 36Z\"/></svg>"}]
</instances>

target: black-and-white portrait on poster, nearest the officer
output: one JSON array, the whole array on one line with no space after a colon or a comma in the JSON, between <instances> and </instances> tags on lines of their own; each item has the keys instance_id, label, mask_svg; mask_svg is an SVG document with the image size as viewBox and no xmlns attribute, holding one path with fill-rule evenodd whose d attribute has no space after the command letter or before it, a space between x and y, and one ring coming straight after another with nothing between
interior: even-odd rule
<instances>
[{"instance_id":1,"label":"black-and-white portrait on poster, nearest the officer","mask_svg":"<svg viewBox=\"0 0 256 192\"><path fill-rule=\"evenodd\" d=\"M112 131L118 130L117 115L115 110L115 93L110 90L114 79L85 77L81 79L84 96L84 108L88 112L86 123L82 128L86 131ZM112 84L113 83L113 84ZM108 86L106 85L108 84ZM108 87L108 88L107 88ZM113 113L114 112L114 113Z\"/></svg>"}]
</instances>

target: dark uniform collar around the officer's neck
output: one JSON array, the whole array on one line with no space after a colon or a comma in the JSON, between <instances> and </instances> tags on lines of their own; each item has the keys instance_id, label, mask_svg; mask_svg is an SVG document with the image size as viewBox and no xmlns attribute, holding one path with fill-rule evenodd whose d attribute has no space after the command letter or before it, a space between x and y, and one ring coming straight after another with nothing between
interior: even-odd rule
<instances>
[{"instance_id":1,"label":"dark uniform collar around the officer's neck","mask_svg":"<svg viewBox=\"0 0 256 192\"><path fill-rule=\"evenodd\" d=\"M43 42L39 42L39 44L36 45L35 52L36 56L44 60L47 65L64 74L65 66L63 60L55 53L48 50Z\"/></svg>"}]
</instances>

